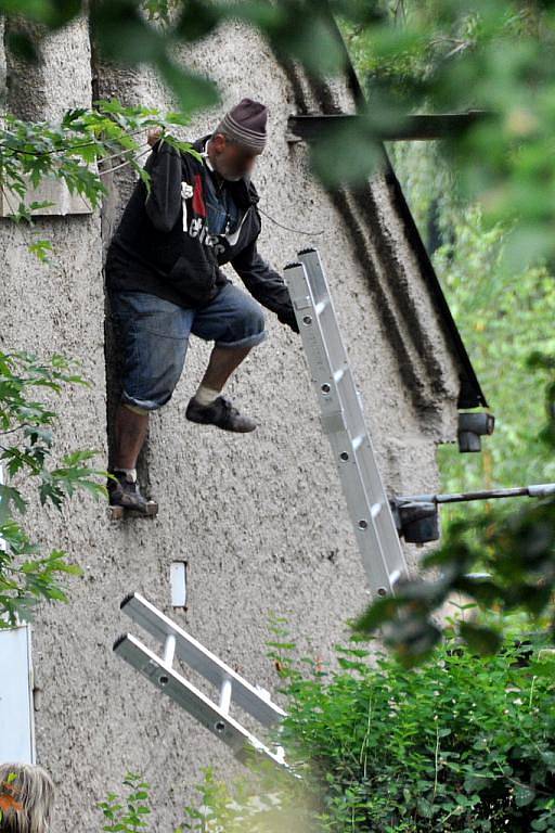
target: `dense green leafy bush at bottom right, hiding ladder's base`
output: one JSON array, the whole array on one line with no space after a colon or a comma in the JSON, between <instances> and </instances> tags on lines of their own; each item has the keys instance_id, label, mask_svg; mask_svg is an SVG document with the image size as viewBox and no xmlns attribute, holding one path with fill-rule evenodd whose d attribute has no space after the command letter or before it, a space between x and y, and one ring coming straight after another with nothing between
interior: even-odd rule
<instances>
[{"instance_id":1,"label":"dense green leafy bush at bottom right, hiding ladder's base","mask_svg":"<svg viewBox=\"0 0 555 833\"><path fill-rule=\"evenodd\" d=\"M207 768L176 833L555 829L555 654L541 640L483 658L451 633L410 670L358 641L335 646L333 670L285 644L280 743L301 779L262 785L255 768L230 784Z\"/></svg>"}]
</instances>

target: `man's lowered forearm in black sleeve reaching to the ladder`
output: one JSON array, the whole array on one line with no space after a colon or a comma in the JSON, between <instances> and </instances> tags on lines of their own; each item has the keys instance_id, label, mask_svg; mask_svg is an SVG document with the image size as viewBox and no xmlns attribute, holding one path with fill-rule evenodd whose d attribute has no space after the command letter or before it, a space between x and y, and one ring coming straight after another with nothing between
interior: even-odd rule
<instances>
[{"instance_id":1,"label":"man's lowered forearm in black sleeve reaching to the ladder","mask_svg":"<svg viewBox=\"0 0 555 833\"><path fill-rule=\"evenodd\" d=\"M256 240L245 246L236 257L231 260L249 293L263 307L272 310L282 324L288 324L296 333L299 332L297 319L293 309L289 291L285 281L272 269L257 252Z\"/></svg>"}]
</instances>

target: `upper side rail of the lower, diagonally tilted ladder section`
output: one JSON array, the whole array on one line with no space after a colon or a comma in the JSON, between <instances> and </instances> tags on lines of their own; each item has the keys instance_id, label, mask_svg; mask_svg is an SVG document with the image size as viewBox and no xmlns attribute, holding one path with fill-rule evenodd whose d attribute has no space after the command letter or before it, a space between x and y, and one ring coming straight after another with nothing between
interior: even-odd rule
<instances>
[{"instance_id":1,"label":"upper side rail of the lower, diagonally tilted ladder section","mask_svg":"<svg viewBox=\"0 0 555 833\"><path fill-rule=\"evenodd\" d=\"M263 726L273 726L284 717L285 712L273 703L270 696L264 696L261 693L263 690L251 685L140 593L133 593L125 599L121 611L164 645L168 636L173 636L175 655L201 674L220 692L227 681L230 681L233 703Z\"/></svg>"}]
</instances>

